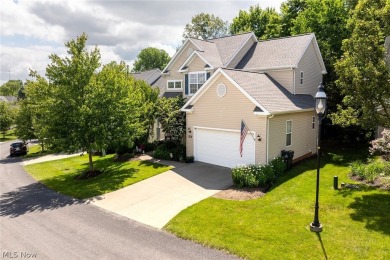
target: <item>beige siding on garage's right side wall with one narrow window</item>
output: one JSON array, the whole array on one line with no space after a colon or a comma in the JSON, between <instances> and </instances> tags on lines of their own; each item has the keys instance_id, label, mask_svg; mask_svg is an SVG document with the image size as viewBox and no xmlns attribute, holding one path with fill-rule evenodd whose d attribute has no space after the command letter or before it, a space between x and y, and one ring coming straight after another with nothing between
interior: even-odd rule
<instances>
[{"instance_id":1,"label":"beige siding on garage's right side wall with one narrow window","mask_svg":"<svg viewBox=\"0 0 390 260\"><path fill-rule=\"evenodd\" d=\"M268 160L280 156L282 150L293 150L294 159L316 153L317 124L312 128L314 112L275 115L269 119ZM292 122L291 145L286 146L286 122Z\"/></svg>"}]
</instances>

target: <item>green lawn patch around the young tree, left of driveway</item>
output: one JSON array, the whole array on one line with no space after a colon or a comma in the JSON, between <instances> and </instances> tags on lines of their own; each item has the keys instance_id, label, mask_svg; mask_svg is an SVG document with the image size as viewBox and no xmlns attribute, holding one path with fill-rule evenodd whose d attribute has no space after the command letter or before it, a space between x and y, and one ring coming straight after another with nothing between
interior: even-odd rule
<instances>
[{"instance_id":1,"label":"green lawn patch around the young tree, left of driveway","mask_svg":"<svg viewBox=\"0 0 390 260\"><path fill-rule=\"evenodd\" d=\"M85 199L118 190L172 168L146 161L114 162L112 157L94 156L94 167L103 170L103 173L87 180L76 180L74 176L88 170L88 156L30 164L25 169L47 187Z\"/></svg>"}]
</instances>

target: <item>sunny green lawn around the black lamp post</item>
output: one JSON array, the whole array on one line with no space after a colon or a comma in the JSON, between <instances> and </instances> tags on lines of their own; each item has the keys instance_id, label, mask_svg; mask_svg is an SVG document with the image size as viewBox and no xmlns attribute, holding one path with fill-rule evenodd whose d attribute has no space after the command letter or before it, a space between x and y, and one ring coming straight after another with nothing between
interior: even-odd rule
<instances>
[{"instance_id":1,"label":"sunny green lawn around the black lamp post","mask_svg":"<svg viewBox=\"0 0 390 260\"><path fill-rule=\"evenodd\" d=\"M248 259L390 259L390 192L366 186L333 189L334 175L339 183L353 183L349 162L362 157L358 149L323 156L320 234L309 230L315 159L293 167L264 197L208 198L182 211L165 229Z\"/></svg>"}]
</instances>

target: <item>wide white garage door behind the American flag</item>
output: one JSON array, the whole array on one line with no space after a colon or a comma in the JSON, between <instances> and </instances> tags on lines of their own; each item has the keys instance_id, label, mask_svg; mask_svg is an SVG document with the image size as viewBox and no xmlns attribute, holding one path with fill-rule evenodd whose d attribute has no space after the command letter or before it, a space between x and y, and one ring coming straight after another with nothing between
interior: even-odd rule
<instances>
[{"instance_id":1,"label":"wide white garage door behind the American flag","mask_svg":"<svg viewBox=\"0 0 390 260\"><path fill-rule=\"evenodd\" d=\"M195 160L232 168L255 163L255 141L250 133L240 156L240 132L195 128Z\"/></svg>"}]
</instances>

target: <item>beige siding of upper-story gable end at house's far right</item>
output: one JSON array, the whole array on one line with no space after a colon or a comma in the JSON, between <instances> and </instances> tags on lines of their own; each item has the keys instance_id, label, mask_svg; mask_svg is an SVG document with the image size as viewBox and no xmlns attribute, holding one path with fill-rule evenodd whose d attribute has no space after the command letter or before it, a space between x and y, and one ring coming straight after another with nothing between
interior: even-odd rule
<instances>
[{"instance_id":1,"label":"beige siding of upper-story gable end at house's far right","mask_svg":"<svg viewBox=\"0 0 390 260\"><path fill-rule=\"evenodd\" d=\"M322 81L322 72L318 57L314 49L314 41L312 40L306 52L295 70L295 93L309 94L315 96L318 85ZM304 78L301 85L301 71L303 71Z\"/></svg>"}]
</instances>

